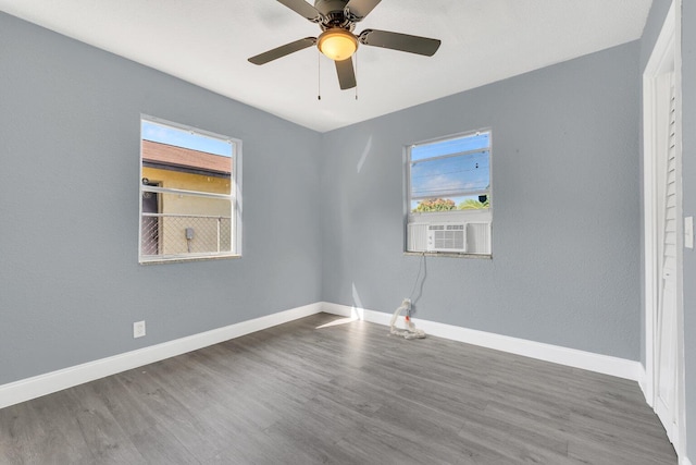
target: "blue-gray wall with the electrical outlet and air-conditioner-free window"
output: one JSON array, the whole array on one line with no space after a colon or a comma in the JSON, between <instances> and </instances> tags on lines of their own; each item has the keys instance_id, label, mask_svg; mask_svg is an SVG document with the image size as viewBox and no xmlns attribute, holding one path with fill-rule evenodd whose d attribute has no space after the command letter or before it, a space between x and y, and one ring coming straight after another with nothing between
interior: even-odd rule
<instances>
[{"instance_id":1,"label":"blue-gray wall with the electrical outlet and air-conditioner-free window","mask_svg":"<svg viewBox=\"0 0 696 465\"><path fill-rule=\"evenodd\" d=\"M243 139L241 259L138 265L141 112ZM0 12L0 384L320 301L320 142Z\"/></svg>"}]
</instances>

